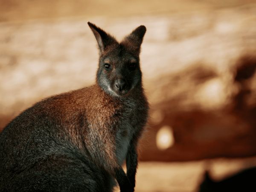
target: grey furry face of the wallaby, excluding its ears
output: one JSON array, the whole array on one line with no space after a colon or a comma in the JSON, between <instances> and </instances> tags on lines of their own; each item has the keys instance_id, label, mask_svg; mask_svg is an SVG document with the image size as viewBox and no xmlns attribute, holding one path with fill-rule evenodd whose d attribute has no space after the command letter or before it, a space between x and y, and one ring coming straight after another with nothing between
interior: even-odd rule
<instances>
[{"instance_id":1,"label":"grey furry face of the wallaby, excluding its ears","mask_svg":"<svg viewBox=\"0 0 256 192\"><path fill-rule=\"evenodd\" d=\"M119 45L99 60L97 81L106 93L124 96L141 82L139 58Z\"/></svg>"}]
</instances>

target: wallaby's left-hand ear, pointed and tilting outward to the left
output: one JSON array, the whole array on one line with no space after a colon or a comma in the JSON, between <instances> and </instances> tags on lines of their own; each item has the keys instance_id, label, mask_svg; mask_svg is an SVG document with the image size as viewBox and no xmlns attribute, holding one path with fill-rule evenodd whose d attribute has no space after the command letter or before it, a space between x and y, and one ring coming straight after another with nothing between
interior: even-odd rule
<instances>
[{"instance_id":1,"label":"wallaby's left-hand ear, pointed and tilting outward to the left","mask_svg":"<svg viewBox=\"0 0 256 192\"><path fill-rule=\"evenodd\" d=\"M115 44L116 40L111 35L106 33L104 30L100 29L93 23L88 22L88 25L90 29L92 29L93 34L97 40L97 43L99 45L99 51L100 53L104 52L104 50L111 44Z\"/></svg>"}]
</instances>

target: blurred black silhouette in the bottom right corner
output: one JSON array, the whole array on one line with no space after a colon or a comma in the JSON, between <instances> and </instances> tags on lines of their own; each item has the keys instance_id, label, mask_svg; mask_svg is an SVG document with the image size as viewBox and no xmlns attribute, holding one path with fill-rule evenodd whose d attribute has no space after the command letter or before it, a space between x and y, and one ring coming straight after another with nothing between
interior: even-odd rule
<instances>
[{"instance_id":1,"label":"blurred black silhouette in the bottom right corner","mask_svg":"<svg viewBox=\"0 0 256 192\"><path fill-rule=\"evenodd\" d=\"M256 192L256 167L245 169L221 181L212 180L206 171L199 192Z\"/></svg>"}]
</instances>

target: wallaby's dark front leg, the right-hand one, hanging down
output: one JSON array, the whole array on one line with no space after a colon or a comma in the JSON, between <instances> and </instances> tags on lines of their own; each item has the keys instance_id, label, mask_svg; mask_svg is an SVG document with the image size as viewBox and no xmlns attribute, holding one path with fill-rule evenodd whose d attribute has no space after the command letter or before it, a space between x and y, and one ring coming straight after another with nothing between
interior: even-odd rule
<instances>
[{"instance_id":1,"label":"wallaby's dark front leg, the right-hand one, hanging down","mask_svg":"<svg viewBox=\"0 0 256 192\"><path fill-rule=\"evenodd\" d=\"M126 174L133 188L135 187L135 175L137 172L137 165L138 165L136 145L137 144L132 140L129 146L128 153L126 155L126 168L127 168Z\"/></svg>"}]
</instances>

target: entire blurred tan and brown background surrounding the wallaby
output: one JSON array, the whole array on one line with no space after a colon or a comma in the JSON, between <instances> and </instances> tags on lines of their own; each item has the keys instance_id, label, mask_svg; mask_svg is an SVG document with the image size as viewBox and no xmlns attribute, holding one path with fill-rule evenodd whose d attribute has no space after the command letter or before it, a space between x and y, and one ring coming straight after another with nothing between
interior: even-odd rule
<instances>
[{"instance_id":1,"label":"entire blurred tan and brown background surrounding the wallaby","mask_svg":"<svg viewBox=\"0 0 256 192\"><path fill-rule=\"evenodd\" d=\"M137 191L196 191L256 166L256 0L0 0L0 130L39 100L95 81L87 21L143 24L151 104Z\"/></svg>"}]
</instances>

